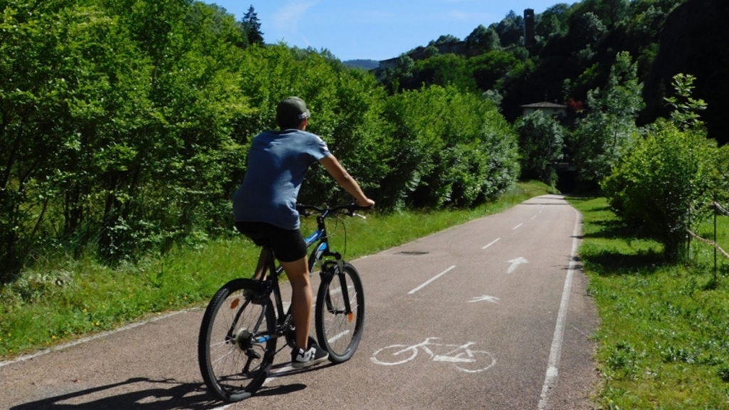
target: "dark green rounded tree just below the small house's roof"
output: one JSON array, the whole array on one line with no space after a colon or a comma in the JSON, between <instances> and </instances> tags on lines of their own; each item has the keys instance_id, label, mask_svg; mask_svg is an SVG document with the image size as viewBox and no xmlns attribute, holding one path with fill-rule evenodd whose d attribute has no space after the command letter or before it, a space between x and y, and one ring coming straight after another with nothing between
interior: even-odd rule
<instances>
[{"instance_id":1,"label":"dark green rounded tree just below the small house's roof","mask_svg":"<svg viewBox=\"0 0 729 410\"><path fill-rule=\"evenodd\" d=\"M562 158L564 131L553 117L535 111L516 126L521 152L521 177L539 179L554 186L557 174L552 164Z\"/></svg>"}]
</instances>

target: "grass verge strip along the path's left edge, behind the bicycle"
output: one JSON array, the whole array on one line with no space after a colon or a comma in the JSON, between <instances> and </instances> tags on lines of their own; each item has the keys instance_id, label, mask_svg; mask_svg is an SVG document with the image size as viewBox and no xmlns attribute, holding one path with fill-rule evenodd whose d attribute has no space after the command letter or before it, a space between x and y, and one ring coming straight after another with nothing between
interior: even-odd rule
<instances>
[{"instance_id":1,"label":"grass verge strip along the path's left edge, behind the bicycle","mask_svg":"<svg viewBox=\"0 0 729 410\"><path fill-rule=\"evenodd\" d=\"M346 225L327 227L334 236L332 246L340 251L346 227L346 258L352 260L547 192L546 185L520 183L499 201L476 209L373 212L366 221L346 218ZM313 218L305 220L303 232L313 230L313 224ZM16 282L0 287L0 357L52 347L150 314L203 306L228 280L250 276L258 252L243 236L233 236L114 269L93 258L37 263Z\"/></svg>"}]
</instances>

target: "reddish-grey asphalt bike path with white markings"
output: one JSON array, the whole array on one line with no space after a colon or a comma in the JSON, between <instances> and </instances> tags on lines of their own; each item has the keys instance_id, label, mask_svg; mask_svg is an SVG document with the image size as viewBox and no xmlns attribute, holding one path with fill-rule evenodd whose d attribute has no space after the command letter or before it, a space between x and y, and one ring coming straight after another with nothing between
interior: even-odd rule
<instances>
[{"instance_id":1,"label":"reddish-grey asphalt bike path with white markings","mask_svg":"<svg viewBox=\"0 0 729 410\"><path fill-rule=\"evenodd\" d=\"M0 409L591 409L580 228L563 197L540 196L352 260L366 306L354 357L294 371L279 341L270 378L240 403L206 393L191 309L1 362Z\"/></svg>"}]
</instances>

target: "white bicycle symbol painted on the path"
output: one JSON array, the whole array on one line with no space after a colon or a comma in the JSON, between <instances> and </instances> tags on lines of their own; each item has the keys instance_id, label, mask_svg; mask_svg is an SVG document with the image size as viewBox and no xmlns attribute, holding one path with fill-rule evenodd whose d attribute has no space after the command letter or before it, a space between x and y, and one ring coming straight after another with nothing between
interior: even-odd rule
<instances>
[{"instance_id":1,"label":"white bicycle symbol painted on the path","mask_svg":"<svg viewBox=\"0 0 729 410\"><path fill-rule=\"evenodd\" d=\"M373 353L370 360L378 365L400 365L413 360L418 355L418 351L422 350L430 356L432 361L451 363L459 370L467 373L486 371L496 364L496 358L491 353L483 350L472 350L471 347L475 345L472 341L467 344L434 343L434 340L437 339L440 338L429 337L424 342L412 346L393 344L383 347ZM438 355L433 352L433 348L436 350L444 350L445 348L449 351L443 355Z\"/></svg>"}]
</instances>

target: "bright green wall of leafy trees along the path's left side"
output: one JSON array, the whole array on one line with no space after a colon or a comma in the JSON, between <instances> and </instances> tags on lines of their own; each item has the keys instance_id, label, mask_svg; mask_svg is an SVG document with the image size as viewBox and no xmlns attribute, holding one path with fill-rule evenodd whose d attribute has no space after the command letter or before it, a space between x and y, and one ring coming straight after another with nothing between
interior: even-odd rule
<instances>
[{"instance_id":1,"label":"bright green wall of leafy trees along the path's left side","mask_svg":"<svg viewBox=\"0 0 729 410\"><path fill-rule=\"evenodd\" d=\"M511 127L472 86L388 96L325 51L260 45L252 7L241 22L192 0L0 12L0 282L44 258L122 263L229 233L248 144L286 96L383 210L471 206L517 176ZM300 200L341 194L315 167Z\"/></svg>"}]
</instances>

